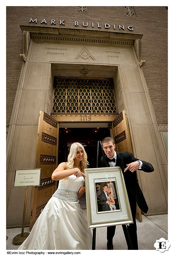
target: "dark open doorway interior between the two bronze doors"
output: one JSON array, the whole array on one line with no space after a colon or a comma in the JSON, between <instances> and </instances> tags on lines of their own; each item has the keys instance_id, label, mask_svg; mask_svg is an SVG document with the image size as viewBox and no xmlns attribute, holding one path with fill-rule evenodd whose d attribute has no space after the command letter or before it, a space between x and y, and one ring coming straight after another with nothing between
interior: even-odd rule
<instances>
[{"instance_id":1,"label":"dark open doorway interior between the two bronze doors","mask_svg":"<svg viewBox=\"0 0 174 256\"><path fill-rule=\"evenodd\" d=\"M110 137L108 128L60 128L59 129L59 144L58 144L58 164L67 162L70 146L73 142L81 143L88 156L88 168L96 168L97 166L97 146L98 141L102 141L105 137ZM98 167L100 168L100 157ZM80 206L83 210L86 209L85 193L79 198Z\"/></svg>"}]
</instances>

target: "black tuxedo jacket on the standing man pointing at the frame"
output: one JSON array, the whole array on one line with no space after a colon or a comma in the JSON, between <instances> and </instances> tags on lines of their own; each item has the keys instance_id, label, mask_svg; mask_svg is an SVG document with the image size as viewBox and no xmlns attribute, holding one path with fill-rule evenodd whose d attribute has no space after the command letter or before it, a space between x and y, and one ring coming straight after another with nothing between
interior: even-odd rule
<instances>
[{"instance_id":1,"label":"black tuxedo jacket on the standing man pointing at the frame","mask_svg":"<svg viewBox=\"0 0 174 256\"><path fill-rule=\"evenodd\" d=\"M147 206L144 195L143 195L143 193L140 189L140 186L138 184L136 171L134 171L133 173L130 172L129 170L124 172L124 169L127 167L126 164L130 164L139 159L135 158L134 155L130 152L116 152L116 154L117 154L116 166L119 166L122 170L122 174L124 176L124 181L126 184L128 196L134 197L137 201L137 205L139 206L139 208L144 213L147 213L149 208ZM104 162L104 159L102 156L101 157L102 167L110 167L109 162L107 161L108 157L106 155L105 155L105 159L106 159L108 166L105 166L105 162ZM147 163L145 161L142 161L142 163L143 163L143 166L141 169L142 171L147 172L147 173L154 171L152 164Z\"/></svg>"}]
</instances>

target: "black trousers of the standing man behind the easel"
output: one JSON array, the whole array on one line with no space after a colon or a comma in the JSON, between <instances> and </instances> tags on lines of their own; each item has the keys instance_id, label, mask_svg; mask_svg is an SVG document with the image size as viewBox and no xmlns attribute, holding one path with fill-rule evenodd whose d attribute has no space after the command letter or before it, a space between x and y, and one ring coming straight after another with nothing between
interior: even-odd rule
<instances>
[{"instance_id":1,"label":"black trousers of the standing man behind the easel","mask_svg":"<svg viewBox=\"0 0 174 256\"><path fill-rule=\"evenodd\" d=\"M129 195L128 195L129 196ZM136 224L136 209L137 209L137 203L134 197L129 196L129 203L131 207L132 212L132 218L134 223L129 224L127 226L127 231L129 233L129 237L131 239L132 247L134 250L138 250L138 240L137 240L137 224ZM107 227L107 240L110 242L112 241L114 235L115 235L116 226ZM129 246L127 247L128 250L132 250Z\"/></svg>"}]
</instances>

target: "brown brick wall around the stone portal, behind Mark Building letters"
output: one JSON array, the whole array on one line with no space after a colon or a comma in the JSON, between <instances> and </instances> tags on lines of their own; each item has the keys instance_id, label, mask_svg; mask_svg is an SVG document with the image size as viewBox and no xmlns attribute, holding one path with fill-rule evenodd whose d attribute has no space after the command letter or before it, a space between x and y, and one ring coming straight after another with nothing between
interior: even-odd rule
<instances>
[{"instance_id":1,"label":"brown brick wall around the stone portal, behind Mark Building letters","mask_svg":"<svg viewBox=\"0 0 174 256\"><path fill-rule=\"evenodd\" d=\"M168 13L165 6L135 6L135 17L126 15L124 6L87 6L87 12L79 12L77 6L7 6L6 7L6 55L7 55L7 125L9 125L14 98L22 67L19 55L23 53L22 31L19 25L45 26L55 28L77 28L119 32L118 25L124 25L124 33L142 34L142 67L149 89L158 124L167 124L167 35ZM37 18L37 24L29 23ZM47 24L42 23L43 19ZM56 24L51 24L55 19ZM65 26L59 24L65 20ZM74 21L79 25L74 26ZM84 27L82 25L88 26ZM94 28L92 28L92 22ZM97 23L102 28L98 28ZM104 28L104 23L110 28ZM116 29L113 29L115 24ZM127 29L133 27L133 31ZM121 30L123 32L123 30Z\"/></svg>"}]
</instances>

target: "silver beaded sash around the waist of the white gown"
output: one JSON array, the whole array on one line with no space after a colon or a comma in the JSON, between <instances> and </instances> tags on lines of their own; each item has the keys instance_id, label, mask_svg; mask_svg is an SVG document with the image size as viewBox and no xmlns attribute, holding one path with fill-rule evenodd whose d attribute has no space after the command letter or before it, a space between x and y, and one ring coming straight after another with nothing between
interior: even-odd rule
<instances>
[{"instance_id":1,"label":"silver beaded sash around the waist of the white gown","mask_svg":"<svg viewBox=\"0 0 174 256\"><path fill-rule=\"evenodd\" d=\"M58 188L52 196L55 196L66 201L78 202L77 192L68 189Z\"/></svg>"}]
</instances>

